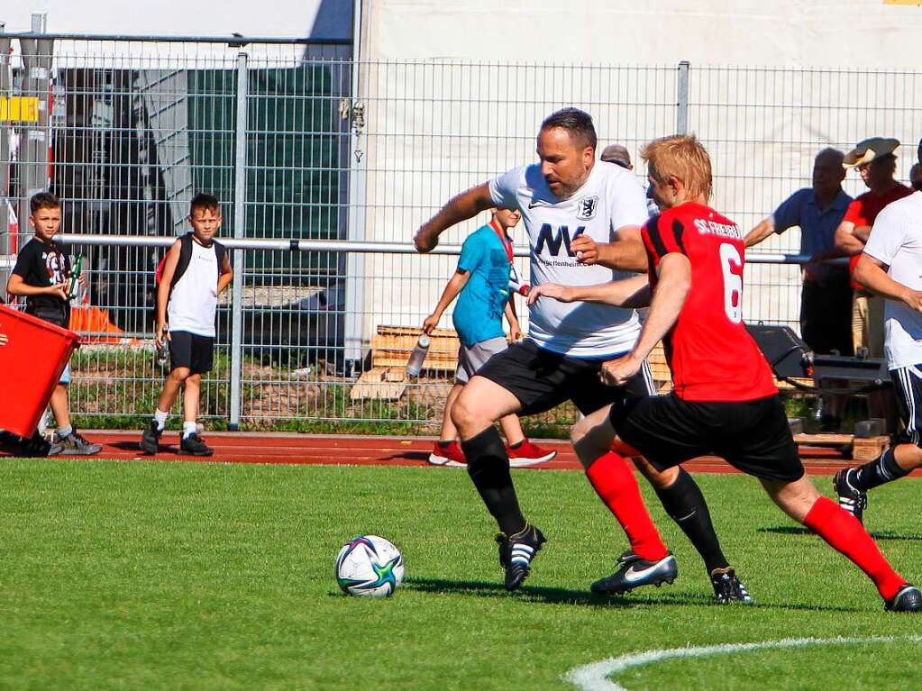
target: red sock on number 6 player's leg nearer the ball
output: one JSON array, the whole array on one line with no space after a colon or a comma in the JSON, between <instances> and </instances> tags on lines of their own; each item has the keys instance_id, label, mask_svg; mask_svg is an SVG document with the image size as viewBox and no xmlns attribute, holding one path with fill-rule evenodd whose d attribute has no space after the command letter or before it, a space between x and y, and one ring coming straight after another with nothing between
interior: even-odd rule
<instances>
[{"instance_id":1,"label":"red sock on number 6 player's leg nearer the ball","mask_svg":"<svg viewBox=\"0 0 922 691\"><path fill-rule=\"evenodd\" d=\"M586 468L585 476L621 523L635 555L647 561L666 556L668 550L646 510L637 480L621 456L609 451Z\"/></svg>"}]
</instances>

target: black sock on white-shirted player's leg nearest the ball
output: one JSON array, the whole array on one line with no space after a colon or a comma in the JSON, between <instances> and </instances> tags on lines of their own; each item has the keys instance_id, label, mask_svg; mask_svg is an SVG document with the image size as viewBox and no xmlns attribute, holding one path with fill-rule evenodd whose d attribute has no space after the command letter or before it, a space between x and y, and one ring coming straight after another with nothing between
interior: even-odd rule
<instances>
[{"instance_id":1,"label":"black sock on white-shirted player's leg nearest the ball","mask_svg":"<svg viewBox=\"0 0 922 691\"><path fill-rule=\"evenodd\" d=\"M476 437L462 441L461 449L467 458L467 474L500 530L507 535L523 531L525 517L519 509L513 478L509 474L509 456L496 427L491 425Z\"/></svg>"}]
</instances>

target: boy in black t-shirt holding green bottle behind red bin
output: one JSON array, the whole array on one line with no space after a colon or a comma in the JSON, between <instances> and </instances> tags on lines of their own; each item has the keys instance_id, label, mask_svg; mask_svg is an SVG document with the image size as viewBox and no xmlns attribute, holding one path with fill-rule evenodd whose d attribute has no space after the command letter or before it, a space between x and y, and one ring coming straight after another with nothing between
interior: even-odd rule
<instances>
[{"instance_id":1,"label":"boy in black t-shirt holding green bottle behind red bin","mask_svg":"<svg viewBox=\"0 0 922 691\"><path fill-rule=\"evenodd\" d=\"M26 313L57 326L68 327L70 299L70 259L54 235L61 229L61 202L49 192L35 194L30 200L29 223L35 237L19 251L16 266L6 283L9 295L26 298ZM70 384L70 363L52 393L52 413L57 423L57 436L67 455L88 456L99 453L99 444L90 444L70 424L67 386Z\"/></svg>"}]
</instances>

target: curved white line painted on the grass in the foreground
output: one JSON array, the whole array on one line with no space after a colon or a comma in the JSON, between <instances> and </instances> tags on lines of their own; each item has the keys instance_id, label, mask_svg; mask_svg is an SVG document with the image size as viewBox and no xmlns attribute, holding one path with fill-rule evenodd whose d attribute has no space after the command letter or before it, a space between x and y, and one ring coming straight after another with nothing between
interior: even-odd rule
<instances>
[{"instance_id":1,"label":"curved white line painted on the grass in the foreground","mask_svg":"<svg viewBox=\"0 0 922 691\"><path fill-rule=\"evenodd\" d=\"M807 646L848 645L858 643L892 643L896 640L907 640L913 643L922 643L922 636L894 638L892 636L875 636L869 638L783 638L781 640L766 640L761 643L725 643L715 646L694 646L688 648L672 648L669 650L644 650L617 658L609 658L601 662L574 667L563 675L564 680L575 685L582 691L629 691L629 689L609 679L611 674L624 672L632 667L643 667L656 664L664 660L680 658L700 658L708 655L735 655L740 652L752 650L770 650L779 648L805 648Z\"/></svg>"}]
</instances>

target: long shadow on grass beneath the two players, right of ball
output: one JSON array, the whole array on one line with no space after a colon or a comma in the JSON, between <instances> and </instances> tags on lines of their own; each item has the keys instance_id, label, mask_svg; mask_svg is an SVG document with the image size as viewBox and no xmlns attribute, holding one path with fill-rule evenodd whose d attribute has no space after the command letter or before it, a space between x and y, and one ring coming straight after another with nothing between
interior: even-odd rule
<instances>
[{"instance_id":1,"label":"long shadow on grass beneath the two players, right of ball","mask_svg":"<svg viewBox=\"0 0 922 691\"><path fill-rule=\"evenodd\" d=\"M512 597L516 600L541 604L575 604L597 608L629 609L638 605L713 606L727 607L716 603L710 594L677 593L661 591L656 597L625 594L596 595L590 591L573 591L567 588L524 586L521 590L506 592L501 583L484 580L445 580L410 578L404 580L403 588L417 592L461 593L478 597ZM740 609L791 609L810 612L862 612L853 607L835 607L805 603L755 603L749 606L736 605Z\"/></svg>"}]
</instances>

